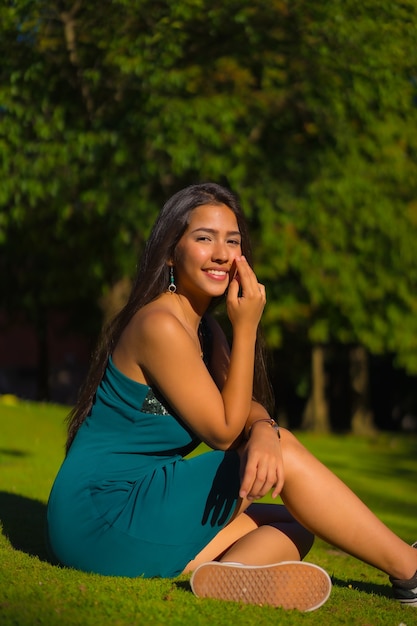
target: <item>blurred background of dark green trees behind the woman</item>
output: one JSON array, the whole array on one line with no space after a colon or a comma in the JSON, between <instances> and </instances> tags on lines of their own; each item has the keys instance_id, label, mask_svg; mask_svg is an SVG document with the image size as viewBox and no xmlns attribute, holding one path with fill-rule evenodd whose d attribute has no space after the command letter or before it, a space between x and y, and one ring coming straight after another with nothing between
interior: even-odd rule
<instances>
[{"instance_id":1,"label":"blurred background of dark green trees behind the woman","mask_svg":"<svg viewBox=\"0 0 417 626\"><path fill-rule=\"evenodd\" d=\"M415 0L10 0L0 54L0 395L74 402L161 205L211 180L281 423L417 431Z\"/></svg>"}]
</instances>

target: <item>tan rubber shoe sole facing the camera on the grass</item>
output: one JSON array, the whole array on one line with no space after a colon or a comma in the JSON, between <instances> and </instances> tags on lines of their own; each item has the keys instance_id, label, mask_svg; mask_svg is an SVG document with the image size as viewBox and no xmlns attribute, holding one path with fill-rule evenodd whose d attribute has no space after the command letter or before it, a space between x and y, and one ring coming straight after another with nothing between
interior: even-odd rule
<instances>
[{"instance_id":1,"label":"tan rubber shoe sole facing the camera on the grass","mask_svg":"<svg viewBox=\"0 0 417 626\"><path fill-rule=\"evenodd\" d=\"M266 604L314 611L330 596L332 583L321 567L300 561L241 565L213 561L199 565L190 579L198 598Z\"/></svg>"}]
</instances>

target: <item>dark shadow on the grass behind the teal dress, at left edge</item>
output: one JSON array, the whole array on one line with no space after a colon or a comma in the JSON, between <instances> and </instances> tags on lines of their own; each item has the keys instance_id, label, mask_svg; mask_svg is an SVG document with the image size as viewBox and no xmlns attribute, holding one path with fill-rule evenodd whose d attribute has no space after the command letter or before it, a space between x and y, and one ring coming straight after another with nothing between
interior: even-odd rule
<instances>
[{"instance_id":1,"label":"dark shadow on the grass behind the teal dress, at left edge","mask_svg":"<svg viewBox=\"0 0 417 626\"><path fill-rule=\"evenodd\" d=\"M7 491L0 491L0 521L3 534L16 550L41 561L54 563L45 540L46 505Z\"/></svg>"}]
</instances>

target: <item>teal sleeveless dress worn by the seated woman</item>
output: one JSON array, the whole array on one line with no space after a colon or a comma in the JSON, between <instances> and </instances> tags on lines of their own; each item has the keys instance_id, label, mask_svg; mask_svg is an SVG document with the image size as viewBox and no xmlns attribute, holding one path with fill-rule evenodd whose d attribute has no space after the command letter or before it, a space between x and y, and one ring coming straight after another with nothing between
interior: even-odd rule
<instances>
[{"instance_id":1,"label":"teal sleeveless dress worn by the seated woman","mask_svg":"<svg viewBox=\"0 0 417 626\"><path fill-rule=\"evenodd\" d=\"M184 458L199 443L110 358L49 497L55 558L111 576L180 574L230 520L239 492L237 453Z\"/></svg>"}]
</instances>

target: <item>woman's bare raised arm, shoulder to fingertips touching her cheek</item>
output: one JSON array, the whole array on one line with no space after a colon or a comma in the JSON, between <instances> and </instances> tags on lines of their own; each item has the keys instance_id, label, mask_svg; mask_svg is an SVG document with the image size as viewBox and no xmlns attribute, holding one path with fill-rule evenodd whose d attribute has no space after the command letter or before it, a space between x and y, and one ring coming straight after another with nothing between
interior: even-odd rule
<instances>
[{"instance_id":1,"label":"woman's bare raised arm, shoulder to fingertips touching her cheek","mask_svg":"<svg viewBox=\"0 0 417 626\"><path fill-rule=\"evenodd\" d=\"M256 329L265 290L242 257L239 283L232 280L227 309L233 345L224 384L219 389L192 337L169 311L152 309L137 319L138 363L147 378L203 441L227 449L242 432L252 407Z\"/></svg>"}]
</instances>

